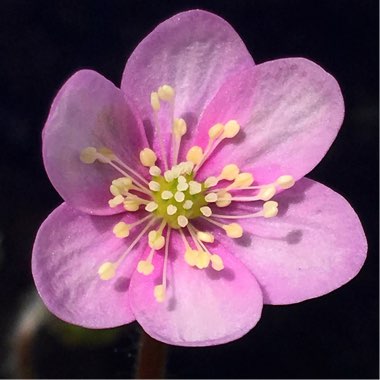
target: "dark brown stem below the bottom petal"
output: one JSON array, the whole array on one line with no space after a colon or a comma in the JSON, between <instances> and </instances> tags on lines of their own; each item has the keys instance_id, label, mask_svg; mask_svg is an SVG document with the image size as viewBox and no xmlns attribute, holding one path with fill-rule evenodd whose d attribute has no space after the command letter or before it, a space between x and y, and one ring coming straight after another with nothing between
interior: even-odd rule
<instances>
[{"instance_id":1,"label":"dark brown stem below the bottom petal","mask_svg":"<svg viewBox=\"0 0 380 380\"><path fill-rule=\"evenodd\" d=\"M137 379L163 379L165 364L166 344L158 342L142 331L135 377Z\"/></svg>"}]
</instances>

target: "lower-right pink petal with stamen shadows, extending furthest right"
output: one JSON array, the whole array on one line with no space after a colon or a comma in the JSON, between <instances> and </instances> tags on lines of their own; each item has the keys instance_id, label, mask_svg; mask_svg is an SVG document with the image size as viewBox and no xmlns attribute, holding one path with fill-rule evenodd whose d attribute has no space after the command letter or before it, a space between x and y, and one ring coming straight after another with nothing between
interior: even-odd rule
<instances>
[{"instance_id":1,"label":"lower-right pink petal with stamen shadows, extending furthest right","mask_svg":"<svg viewBox=\"0 0 380 380\"><path fill-rule=\"evenodd\" d=\"M304 178L276 201L277 217L240 219L243 237L224 239L226 250L234 250L254 273L265 303L318 297L357 275L367 242L355 211L341 195Z\"/></svg>"}]
</instances>

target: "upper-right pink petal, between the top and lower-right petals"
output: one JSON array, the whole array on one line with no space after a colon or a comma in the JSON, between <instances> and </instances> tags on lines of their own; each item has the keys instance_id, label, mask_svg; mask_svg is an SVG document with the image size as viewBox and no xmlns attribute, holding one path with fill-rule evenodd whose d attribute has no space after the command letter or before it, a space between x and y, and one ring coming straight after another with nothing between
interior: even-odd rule
<instances>
[{"instance_id":1,"label":"upper-right pink petal, between the top and lower-right petals","mask_svg":"<svg viewBox=\"0 0 380 380\"><path fill-rule=\"evenodd\" d=\"M204 146L216 122L242 126L205 165L215 175L229 163L253 167L258 182L303 177L325 155L342 124L344 104L336 80L304 58L266 62L227 81L205 111L196 144Z\"/></svg>"}]
</instances>

